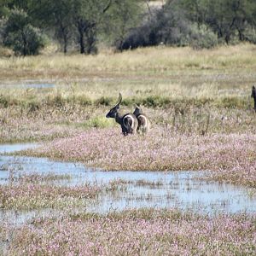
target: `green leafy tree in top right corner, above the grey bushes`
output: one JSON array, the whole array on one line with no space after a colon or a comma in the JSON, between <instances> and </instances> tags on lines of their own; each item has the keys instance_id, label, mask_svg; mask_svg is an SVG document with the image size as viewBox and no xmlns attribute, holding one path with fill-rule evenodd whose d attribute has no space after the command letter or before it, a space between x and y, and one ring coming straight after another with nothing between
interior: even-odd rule
<instances>
[{"instance_id":1,"label":"green leafy tree in top right corner, above the grey bushes","mask_svg":"<svg viewBox=\"0 0 256 256\"><path fill-rule=\"evenodd\" d=\"M248 27L256 25L255 0L181 0L179 5L189 20L199 27L207 24L226 44L237 36L241 41L247 40Z\"/></svg>"}]
</instances>

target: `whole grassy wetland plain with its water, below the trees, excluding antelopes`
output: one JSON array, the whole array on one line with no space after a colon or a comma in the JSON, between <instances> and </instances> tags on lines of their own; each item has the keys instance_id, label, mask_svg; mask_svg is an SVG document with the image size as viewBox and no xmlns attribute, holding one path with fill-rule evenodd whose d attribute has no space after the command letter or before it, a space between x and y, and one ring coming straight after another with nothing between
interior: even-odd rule
<instances>
[{"instance_id":1,"label":"whole grassy wetland plain with its water, below the trees, excluding antelopes","mask_svg":"<svg viewBox=\"0 0 256 256\"><path fill-rule=\"evenodd\" d=\"M255 202L255 70L253 44L0 59L0 142L37 143L1 152L0 253L253 255L255 207L231 208ZM143 105L152 124L147 135L124 137L105 118L119 91L123 111ZM52 172L55 161L69 163ZM195 176L175 179L172 171ZM220 189L198 190L201 183ZM209 210L214 200L207 212L177 200L184 191L210 198L231 188L242 192L218 201L220 212ZM92 211L125 196L152 205L122 201L118 211L108 201L106 212ZM163 200L177 204L163 207ZM28 217L15 223L12 211Z\"/></svg>"}]
</instances>

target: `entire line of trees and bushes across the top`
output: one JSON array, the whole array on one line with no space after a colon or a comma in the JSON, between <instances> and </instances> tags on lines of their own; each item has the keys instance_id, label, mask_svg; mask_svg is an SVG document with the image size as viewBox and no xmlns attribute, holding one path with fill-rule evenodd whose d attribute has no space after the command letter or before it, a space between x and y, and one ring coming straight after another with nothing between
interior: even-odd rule
<instances>
[{"instance_id":1,"label":"entire line of trees and bushes across the top","mask_svg":"<svg viewBox=\"0 0 256 256\"><path fill-rule=\"evenodd\" d=\"M255 0L0 0L0 44L37 55L51 41L61 51L96 54L166 44L195 49L256 44Z\"/></svg>"}]
</instances>

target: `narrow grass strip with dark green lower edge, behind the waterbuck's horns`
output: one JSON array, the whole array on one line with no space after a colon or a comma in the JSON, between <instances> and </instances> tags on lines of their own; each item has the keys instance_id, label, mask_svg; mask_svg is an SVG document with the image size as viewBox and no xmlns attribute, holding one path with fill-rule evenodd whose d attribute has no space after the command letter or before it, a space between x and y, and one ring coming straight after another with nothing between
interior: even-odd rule
<instances>
[{"instance_id":1,"label":"narrow grass strip with dark green lower edge, behind the waterbuck's horns","mask_svg":"<svg viewBox=\"0 0 256 256\"><path fill-rule=\"evenodd\" d=\"M118 83L117 81L113 83ZM142 83L143 79L142 79ZM157 81L156 81L157 83ZM253 81L251 82L253 84ZM81 107L99 106L111 107L117 102L119 91L124 95L123 106L134 106L142 104L148 108L169 108L179 106L204 107L210 105L218 108L240 108L250 109L253 106L253 99L250 98L251 84L247 88L241 88L236 94L233 88L229 90L211 91L211 86L205 84L205 89L200 86L189 87L189 85L175 85L166 81L164 88L158 84L142 84L143 90L134 90L137 84L129 84L127 87L123 84L116 84L113 89L108 89L108 84L101 84L101 90L96 92L95 84L80 84L79 90L75 93L66 88L65 84L58 85L61 89L58 91L44 89L37 90L29 95L24 94L24 90L3 90L0 89L0 106L9 108L19 106L26 112L35 112L40 108L61 108L66 105L80 105ZM219 87L219 84L216 84ZM84 93L86 91L86 93ZM104 96L101 96L104 95Z\"/></svg>"}]
</instances>

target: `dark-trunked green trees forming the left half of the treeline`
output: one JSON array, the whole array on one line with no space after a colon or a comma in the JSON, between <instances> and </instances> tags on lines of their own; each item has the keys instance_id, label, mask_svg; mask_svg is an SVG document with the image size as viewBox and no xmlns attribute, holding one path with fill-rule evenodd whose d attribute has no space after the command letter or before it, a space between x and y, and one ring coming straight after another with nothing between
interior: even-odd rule
<instances>
[{"instance_id":1,"label":"dark-trunked green trees forming the left half of the treeline","mask_svg":"<svg viewBox=\"0 0 256 256\"><path fill-rule=\"evenodd\" d=\"M99 42L115 44L137 26L141 2L0 0L1 41L20 55L36 55L50 40L57 40L64 53L95 54Z\"/></svg>"}]
</instances>

